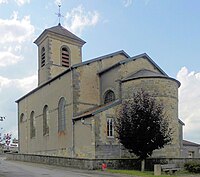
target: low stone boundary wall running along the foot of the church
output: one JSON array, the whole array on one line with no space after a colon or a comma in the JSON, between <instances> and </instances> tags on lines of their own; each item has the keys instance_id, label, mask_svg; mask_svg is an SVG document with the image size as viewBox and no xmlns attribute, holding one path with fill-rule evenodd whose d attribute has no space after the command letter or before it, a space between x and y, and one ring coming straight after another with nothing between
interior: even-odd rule
<instances>
[{"instance_id":1,"label":"low stone boundary wall running along the foot of the church","mask_svg":"<svg viewBox=\"0 0 200 177\"><path fill-rule=\"evenodd\" d=\"M66 158L57 156L43 156L32 154L6 154L7 160L17 160L32 163L41 163L48 165L56 165L63 167L72 167L79 169L96 170L101 169L102 163L107 164L109 169L139 169L140 161L137 159L80 159ZM175 163L183 168L184 163L189 161L197 161L200 163L200 158L149 158L146 160L146 169L153 170L154 164Z\"/></svg>"}]
</instances>

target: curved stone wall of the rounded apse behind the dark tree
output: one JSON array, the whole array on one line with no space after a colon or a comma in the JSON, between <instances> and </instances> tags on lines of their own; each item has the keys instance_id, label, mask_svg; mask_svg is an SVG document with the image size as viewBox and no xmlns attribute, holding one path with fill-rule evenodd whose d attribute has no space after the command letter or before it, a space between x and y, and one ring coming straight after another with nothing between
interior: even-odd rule
<instances>
[{"instance_id":1,"label":"curved stone wall of the rounded apse behind the dark tree","mask_svg":"<svg viewBox=\"0 0 200 177\"><path fill-rule=\"evenodd\" d=\"M136 78L122 83L122 100L129 99L141 88L164 106L165 119L172 129L172 142L161 150L156 150L153 157L180 157L181 136L178 121L178 82L172 78Z\"/></svg>"}]
</instances>

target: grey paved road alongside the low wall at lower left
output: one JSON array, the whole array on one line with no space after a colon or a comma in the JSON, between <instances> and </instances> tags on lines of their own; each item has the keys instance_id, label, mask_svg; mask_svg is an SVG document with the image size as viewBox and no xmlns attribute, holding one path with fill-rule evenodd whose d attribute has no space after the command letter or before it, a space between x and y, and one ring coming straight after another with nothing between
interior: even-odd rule
<instances>
[{"instance_id":1,"label":"grey paved road alongside the low wall at lower left","mask_svg":"<svg viewBox=\"0 0 200 177\"><path fill-rule=\"evenodd\" d=\"M0 158L0 177L127 177L101 171L78 170Z\"/></svg>"}]
</instances>

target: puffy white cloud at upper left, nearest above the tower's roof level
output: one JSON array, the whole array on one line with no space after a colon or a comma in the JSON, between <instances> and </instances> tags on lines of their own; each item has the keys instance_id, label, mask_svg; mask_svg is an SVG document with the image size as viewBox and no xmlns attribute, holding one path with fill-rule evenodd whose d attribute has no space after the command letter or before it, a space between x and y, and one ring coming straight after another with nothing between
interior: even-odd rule
<instances>
[{"instance_id":1,"label":"puffy white cloud at upper left, nearest above the tower's roof level","mask_svg":"<svg viewBox=\"0 0 200 177\"><path fill-rule=\"evenodd\" d=\"M22 43L30 40L34 33L34 26L30 23L30 17L24 16L18 19L18 13L13 12L11 19L0 19L0 43Z\"/></svg>"}]
</instances>

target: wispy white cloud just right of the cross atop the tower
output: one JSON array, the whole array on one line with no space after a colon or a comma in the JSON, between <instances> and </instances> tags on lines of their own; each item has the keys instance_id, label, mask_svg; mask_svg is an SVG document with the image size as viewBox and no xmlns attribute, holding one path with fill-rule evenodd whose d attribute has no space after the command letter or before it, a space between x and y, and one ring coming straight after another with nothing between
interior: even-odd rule
<instances>
[{"instance_id":1,"label":"wispy white cloud just right of the cross atop the tower","mask_svg":"<svg viewBox=\"0 0 200 177\"><path fill-rule=\"evenodd\" d=\"M71 32L81 35L82 31L89 26L95 26L99 22L97 11L86 11L82 5L71 10L65 16L65 26Z\"/></svg>"}]
</instances>

